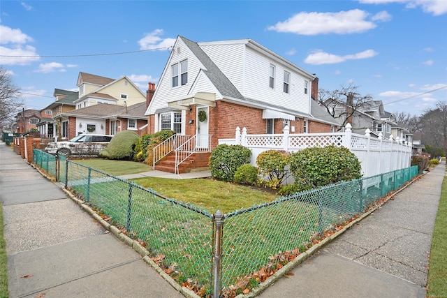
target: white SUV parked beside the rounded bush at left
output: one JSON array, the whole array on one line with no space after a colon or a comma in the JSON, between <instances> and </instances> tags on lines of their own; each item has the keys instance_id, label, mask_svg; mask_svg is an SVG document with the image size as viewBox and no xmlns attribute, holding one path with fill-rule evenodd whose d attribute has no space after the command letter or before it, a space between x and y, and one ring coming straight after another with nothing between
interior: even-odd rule
<instances>
[{"instance_id":1,"label":"white SUV parked beside the rounded bush at left","mask_svg":"<svg viewBox=\"0 0 447 298\"><path fill-rule=\"evenodd\" d=\"M113 135L82 134L69 141L50 142L44 151L49 154L98 155L112 140Z\"/></svg>"}]
</instances>

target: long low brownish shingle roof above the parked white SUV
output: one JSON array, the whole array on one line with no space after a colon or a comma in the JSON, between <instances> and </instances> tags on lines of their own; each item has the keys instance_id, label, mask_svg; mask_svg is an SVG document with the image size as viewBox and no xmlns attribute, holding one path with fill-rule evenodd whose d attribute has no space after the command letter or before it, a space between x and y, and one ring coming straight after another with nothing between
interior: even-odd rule
<instances>
[{"instance_id":1,"label":"long low brownish shingle roof above the parked white SUV","mask_svg":"<svg viewBox=\"0 0 447 298\"><path fill-rule=\"evenodd\" d=\"M82 107L78 110L64 112L64 116L85 117L96 119L108 119L112 117L147 119L145 116L146 103L135 103L129 107L122 105L109 105L98 103L89 107Z\"/></svg>"}]
</instances>

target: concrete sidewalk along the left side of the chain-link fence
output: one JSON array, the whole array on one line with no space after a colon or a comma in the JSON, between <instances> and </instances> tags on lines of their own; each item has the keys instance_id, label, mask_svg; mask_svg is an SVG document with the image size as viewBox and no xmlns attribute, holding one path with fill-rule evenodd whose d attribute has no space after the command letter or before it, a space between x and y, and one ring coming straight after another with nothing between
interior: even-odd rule
<instances>
[{"instance_id":1,"label":"concrete sidewalk along the left side of the chain-link fence","mask_svg":"<svg viewBox=\"0 0 447 298\"><path fill-rule=\"evenodd\" d=\"M4 142L0 199L10 298L184 297Z\"/></svg>"}]
</instances>

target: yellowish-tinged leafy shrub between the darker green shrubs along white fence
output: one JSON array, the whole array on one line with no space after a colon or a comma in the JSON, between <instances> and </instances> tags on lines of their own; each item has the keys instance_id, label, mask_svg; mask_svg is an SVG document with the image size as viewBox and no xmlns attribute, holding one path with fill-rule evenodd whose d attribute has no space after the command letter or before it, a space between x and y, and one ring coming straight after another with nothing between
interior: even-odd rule
<instances>
[{"instance_id":1,"label":"yellowish-tinged leafy shrub between the darker green shrubs along white fence","mask_svg":"<svg viewBox=\"0 0 447 298\"><path fill-rule=\"evenodd\" d=\"M267 178L266 185L276 189L287 178L288 172L284 170L288 165L290 154L286 151L263 151L256 158L259 172L263 178Z\"/></svg>"}]
</instances>

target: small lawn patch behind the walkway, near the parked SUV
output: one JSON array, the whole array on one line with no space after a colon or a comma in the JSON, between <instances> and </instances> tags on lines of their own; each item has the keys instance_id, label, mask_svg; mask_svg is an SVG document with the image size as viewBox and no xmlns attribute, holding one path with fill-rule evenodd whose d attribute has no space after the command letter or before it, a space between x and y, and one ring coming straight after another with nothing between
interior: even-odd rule
<instances>
[{"instance_id":1,"label":"small lawn patch behind the walkway, near the parked SUV","mask_svg":"<svg viewBox=\"0 0 447 298\"><path fill-rule=\"evenodd\" d=\"M136 174L152 170L152 167L149 165L135 161L112 161L110 159L92 158L73 159L73 162L93 167L94 169L101 170L114 176Z\"/></svg>"}]
</instances>

